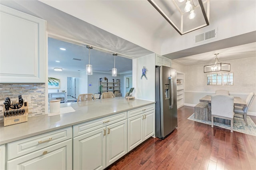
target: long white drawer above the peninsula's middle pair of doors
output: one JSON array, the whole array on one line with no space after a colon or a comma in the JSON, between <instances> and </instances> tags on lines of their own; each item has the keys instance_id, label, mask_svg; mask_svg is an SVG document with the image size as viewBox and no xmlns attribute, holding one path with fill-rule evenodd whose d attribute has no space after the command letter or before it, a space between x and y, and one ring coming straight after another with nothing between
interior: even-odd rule
<instances>
[{"instance_id":1,"label":"long white drawer above the peninsula's middle pair of doors","mask_svg":"<svg viewBox=\"0 0 256 170\"><path fill-rule=\"evenodd\" d=\"M73 137L96 130L98 128L122 121L127 118L127 112L118 113L93 121L81 123L73 126Z\"/></svg>"}]
</instances>

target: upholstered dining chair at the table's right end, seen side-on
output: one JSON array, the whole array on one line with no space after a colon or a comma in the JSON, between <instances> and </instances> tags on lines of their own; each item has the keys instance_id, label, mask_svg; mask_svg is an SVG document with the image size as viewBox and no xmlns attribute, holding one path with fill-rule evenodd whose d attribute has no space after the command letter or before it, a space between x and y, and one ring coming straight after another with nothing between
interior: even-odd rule
<instances>
[{"instance_id":1,"label":"upholstered dining chair at the table's right end, seen side-on","mask_svg":"<svg viewBox=\"0 0 256 170\"><path fill-rule=\"evenodd\" d=\"M246 125L248 125L247 124L247 119L246 119L247 112L248 112L249 107L252 104L252 101L253 101L254 97L255 97L255 93L252 92L246 98L246 101L245 101L245 103L247 105L246 107L238 107L238 106L234 107L234 113L243 115L243 118L244 118L244 121L245 121Z\"/></svg>"}]
</instances>

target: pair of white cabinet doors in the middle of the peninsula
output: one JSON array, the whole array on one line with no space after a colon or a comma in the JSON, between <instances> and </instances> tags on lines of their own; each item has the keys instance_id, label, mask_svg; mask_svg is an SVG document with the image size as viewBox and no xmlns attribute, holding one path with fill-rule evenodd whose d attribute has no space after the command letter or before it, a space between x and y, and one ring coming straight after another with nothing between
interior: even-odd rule
<instances>
[{"instance_id":1,"label":"pair of white cabinet doors in the middle of the peninsula","mask_svg":"<svg viewBox=\"0 0 256 170\"><path fill-rule=\"evenodd\" d=\"M104 169L127 153L127 120L73 138L74 170Z\"/></svg>"}]
</instances>

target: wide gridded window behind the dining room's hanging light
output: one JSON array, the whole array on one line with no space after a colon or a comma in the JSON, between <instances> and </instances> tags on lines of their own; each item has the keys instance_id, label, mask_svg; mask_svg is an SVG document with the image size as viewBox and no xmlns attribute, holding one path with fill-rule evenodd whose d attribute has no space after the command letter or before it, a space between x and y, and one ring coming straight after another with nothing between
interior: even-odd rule
<instances>
[{"instance_id":1,"label":"wide gridded window behind the dining room's hanging light","mask_svg":"<svg viewBox=\"0 0 256 170\"><path fill-rule=\"evenodd\" d=\"M207 85L233 85L233 73L207 74Z\"/></svg>"}]
</instances>

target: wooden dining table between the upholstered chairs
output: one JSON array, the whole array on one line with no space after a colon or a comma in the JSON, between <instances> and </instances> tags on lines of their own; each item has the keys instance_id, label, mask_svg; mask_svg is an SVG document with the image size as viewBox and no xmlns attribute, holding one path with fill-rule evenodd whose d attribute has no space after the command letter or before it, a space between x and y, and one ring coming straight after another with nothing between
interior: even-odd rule
<instances>
[{"instance_id":1,"label":"wooden dining table between the upholstered chairs","mask_svg":"<svg viewBox=\"0 0 256 170\"><path fill-rule=\"evenodd\" d=\"M211 95L206 95L206 96L202 97L199 101L208 103L208 121L211 121L211 117L212 117L212 112L211 112L212 96ZM247 105L246 105L246 102L243 99L241 99L240 97L234 97L234 106L246 107ZM230 120L216 118L216 117L214 117L214 122L224 123L226 125L230 125Z\"/></svg>"}]
</instances>

